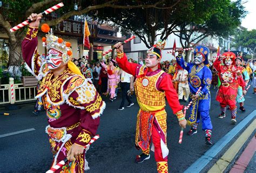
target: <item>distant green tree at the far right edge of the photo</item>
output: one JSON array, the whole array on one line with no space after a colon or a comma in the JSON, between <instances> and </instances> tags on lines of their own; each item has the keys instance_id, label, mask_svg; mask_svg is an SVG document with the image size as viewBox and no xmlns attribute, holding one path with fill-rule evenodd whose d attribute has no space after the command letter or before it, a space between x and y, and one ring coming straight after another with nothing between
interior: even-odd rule
<instances>
[{"instance_id":1,"label":"distant green tree at the far right edge of the photo","mask_svg":"<svg viewBox=\"0 0 256 173\"><path fill-rule=\"evenodd\" d=\"M253 58L256 56L255 48L256 48L256 30L242 30L237 32L234 39L235 44L233 45L235 48L247 48L247 51L251 54Z\"/></svg>"}]
</instances>

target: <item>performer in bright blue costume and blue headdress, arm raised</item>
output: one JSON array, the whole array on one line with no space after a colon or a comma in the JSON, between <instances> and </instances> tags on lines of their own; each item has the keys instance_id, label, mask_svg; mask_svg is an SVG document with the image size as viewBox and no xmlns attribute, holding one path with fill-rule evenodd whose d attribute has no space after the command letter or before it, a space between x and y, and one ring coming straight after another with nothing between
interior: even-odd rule
<instances>
[{"instance_id":1,"label":"performer in bright blue costume and blue headdress, arm raised","mask_svg":"<svg viewBox=\"0 0 256 173\"><path fill-rule=\"evenodd\" d=\"M182 57L182 50L179 50L179 54L176 57L177 63L188 71L188 84L190 85L190 101L193 100L190 106L190 116L187 119L187 124L191 126L188 135L197 133L197 126L202 122L202 128L205 132L205 143L212 145L212 122L209 115L210 112L210 86L212 82L212 72L207 67L208 54L210 50L206 46L197 46L194 50L193 63L186 63ZM199 87L201 91L196 94Z\"/></svg>"}]
</instances>

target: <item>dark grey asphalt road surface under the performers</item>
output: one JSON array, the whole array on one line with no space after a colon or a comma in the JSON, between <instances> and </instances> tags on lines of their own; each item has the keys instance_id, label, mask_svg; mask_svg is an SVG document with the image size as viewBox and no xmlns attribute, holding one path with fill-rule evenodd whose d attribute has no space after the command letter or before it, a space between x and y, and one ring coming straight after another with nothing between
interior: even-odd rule
<instances>
[{"instance_id":1,"label":"dark grey asphalt road surface under the performers","mask_svg":"<svg viewBox=\"0 0 256 173\"><path fill-rule=\"evenodd\" d=\"M227 116L224 119L218 119L220 108L219 103L215 101L216 92L217 89L211 89L210 115L213 124L212 141L214 143L235 126L231 124L231 114L228 110ZM245 98L246 112L242 113L238 109L237 123L256 109L256 94L252 94L252 87L249 89ZM89 162L90 170L86 172L157 172L152 151L150 160L146 160L140 164L134 162L136 155L141 154L140 151L134 148L137 112L139 110L135 96L133 96L134 106L125 107L124 110L118 110L121 102L120 94L114 102L110 102L106 96L103 96L103 100L106 101L106 109L101 116L100 126L98 128L100 138L87 151L86 159ZM183 105L188 104L188 102L185 103L183 101L181 103ZM41 112L41 115L35 116L31 113L32 110L33 105L22 105L21 109L12 111L6 111L4 108L0 108L0 113L8 112L14 114L9 116L0 115L0 136L20 130L35 129L30 132L0 137L1 173L45 172L50 168L52 154L48 137L45 133L45 127L48 124L45 112ZM167 146L170 150L168 161L169 172L184 172L193 162L211 148L211 146L205 145L204 132L200 130L200 124L198 133L193 136L186 135L190 129L187 126L184 131L183 142L179 144L180 127L178 126L177 117L172 114L169 105L166 106L166 112L168 116ZM229 146L230 144L226 148ZM210 169L224 151L221 151L213 158L203 172ZM255 155L252 163L250 163L250 168L246 169L246 172L256 172L255 165L252 165L253 162L255 163Z\"/></svg>"}]
</instances>

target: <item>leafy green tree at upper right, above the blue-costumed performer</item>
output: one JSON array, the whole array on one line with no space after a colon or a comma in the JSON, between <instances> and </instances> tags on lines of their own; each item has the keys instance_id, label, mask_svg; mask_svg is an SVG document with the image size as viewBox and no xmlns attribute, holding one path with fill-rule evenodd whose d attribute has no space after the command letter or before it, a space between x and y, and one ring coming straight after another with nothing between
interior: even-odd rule
<instances>
[{"instance_id":1,"label":"leafy green tree at upper right, above the blue-costumed performer","mask_svg":"<svg viewBox=\"0 0 256 173\"><path fill-rule=\"evenodd\" d=\"M190 19L178 27L174 34L180 38L183 47L196 46L208 36L226 37L234 33L245 17L246 11L241 1L230 0L193 1L194 8L188 11ZM196 33L196 34L195 34ZM188 61L191 51L186 53Z\"/></svg>"}]
</instances>

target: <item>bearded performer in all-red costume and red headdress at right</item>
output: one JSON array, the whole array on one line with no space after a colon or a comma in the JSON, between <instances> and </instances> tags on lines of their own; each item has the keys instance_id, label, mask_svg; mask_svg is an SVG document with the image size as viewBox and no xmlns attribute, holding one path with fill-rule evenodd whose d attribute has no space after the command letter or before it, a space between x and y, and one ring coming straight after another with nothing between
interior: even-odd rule
<instances>
[{"instance_id":1,"label":"bearded performer in all-red costume and red headdress at right","mask_svg":"<svg viewBox=\"0 0 256 173\"><path fill-rule=\"evenodd\" d=\"M221 64L223 61L223 64ZM238 85L242 87L242 94L246 94L245 81L242 78L242 73L235 66L235 54L233 52L225 52L221 58L217 58L213 66L218 71L221 85L217 92L216 100L220 102L221 113L219 118L223 119L226 116L226 106L230 106L231 122L235 124L237 120L237 106L235 98L237 97Z\"/></svg>"}]
</instances>

